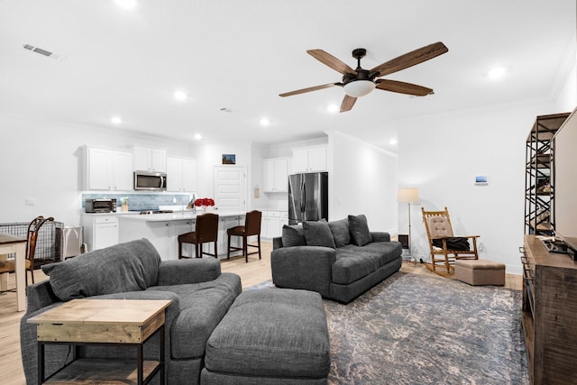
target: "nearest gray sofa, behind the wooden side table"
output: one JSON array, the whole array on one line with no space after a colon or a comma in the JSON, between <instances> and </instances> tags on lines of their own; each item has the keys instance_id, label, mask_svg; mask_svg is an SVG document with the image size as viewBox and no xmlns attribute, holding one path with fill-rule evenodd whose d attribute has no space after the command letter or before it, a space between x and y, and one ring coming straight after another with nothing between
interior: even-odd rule
<instances>
[{"instance_id":1,"label":"nearest gray sofa, behind the wooden side table","mask_svg":"<svg viewBox=\"0 0 577 385\"><path fill-rule=\"evenodd\" d=\"M28 287L28 307L20 325L24 374L37 383L36 325L26 321L73 298L171 299L165 323L167 383L197 384L204 366L206 341L242 291L240 277L221 273L213 258L160 261L146 240L121 243L45 265L50 280ZM144 347L144 358L156 359L159 338ZM80 357L135 359L135 350L114 346L85 346ZM67 345L47 345L47 375L71 359ZM153 383L158 381L158 376Z\"/></svg>"}]
</instances>

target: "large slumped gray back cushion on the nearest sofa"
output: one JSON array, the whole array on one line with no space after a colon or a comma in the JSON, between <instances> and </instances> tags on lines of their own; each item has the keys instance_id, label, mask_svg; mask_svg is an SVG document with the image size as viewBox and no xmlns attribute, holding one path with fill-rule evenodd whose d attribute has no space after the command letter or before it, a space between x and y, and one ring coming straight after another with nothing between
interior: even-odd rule
<instances>
[{"instance_id":1,"label":"large slumped gray back cushion on the nearest sofa","mask_svg":"<svg viewBox=\"0 0 577 385\"><path fill-rule=\"evenodd\" d=\"M156 284L160 255L148 240L119 243L42 266L50 286L62 301L123 291L144 290Z\"/></svg>"}]
</instances>

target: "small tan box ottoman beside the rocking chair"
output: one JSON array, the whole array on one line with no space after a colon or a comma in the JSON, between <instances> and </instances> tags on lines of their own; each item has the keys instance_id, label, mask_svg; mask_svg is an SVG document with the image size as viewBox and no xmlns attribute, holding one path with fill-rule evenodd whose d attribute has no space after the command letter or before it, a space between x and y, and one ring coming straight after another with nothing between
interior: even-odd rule
<instances>
[{"instance_id":1,"label":"small tan box ottoman beside the rocking chair","mask_svg":"<svg viewBox=\"0 0 577 385\"><path fill-rule=\"evenodd\" d=\"M469 285L505 285L505 264L487 260L457 260L454 279Z\"/></svg>"}]
</instances>

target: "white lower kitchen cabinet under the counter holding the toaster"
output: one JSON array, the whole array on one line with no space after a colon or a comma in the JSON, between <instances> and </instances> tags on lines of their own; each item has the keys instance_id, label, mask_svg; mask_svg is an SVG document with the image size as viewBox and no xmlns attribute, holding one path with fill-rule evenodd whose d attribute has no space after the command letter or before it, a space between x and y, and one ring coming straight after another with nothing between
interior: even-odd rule
<instances>
[{"instance_id":1,"label":"white lower kitchen cabinet under the counter holding the toaster","mask_svg":"<svg viewBox=\"0 0 577 385\"><path fill-rule=\"evenodd\" d=\"M118 243L118 218L114 215L83 214L80 225L89 252Z\"/></svg>"}]
</instances>

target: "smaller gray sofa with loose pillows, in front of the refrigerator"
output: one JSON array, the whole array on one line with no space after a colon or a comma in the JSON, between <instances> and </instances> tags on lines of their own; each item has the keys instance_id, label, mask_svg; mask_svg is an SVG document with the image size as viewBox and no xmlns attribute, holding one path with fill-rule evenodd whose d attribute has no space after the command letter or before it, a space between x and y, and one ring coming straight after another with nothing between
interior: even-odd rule
<instances>
[{"instance_id":1,"label":"smaller gray sofa with loose pillows, in front of the refrigerator","mask_svg":"<svg viewBox=\"0 0 577 385\"><path fill-rule=\"evenodd\" d=\"M400 269L402 246L371 232L365 215L284 225L270 253L279 288L307 289L349 303Z\"/></svg>"}]
</instances>

